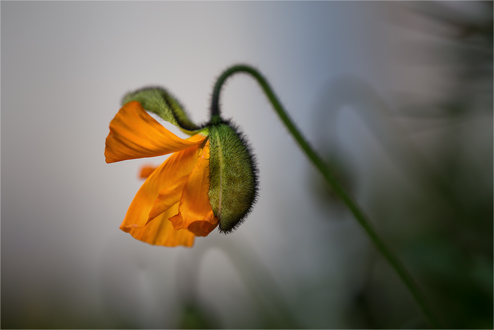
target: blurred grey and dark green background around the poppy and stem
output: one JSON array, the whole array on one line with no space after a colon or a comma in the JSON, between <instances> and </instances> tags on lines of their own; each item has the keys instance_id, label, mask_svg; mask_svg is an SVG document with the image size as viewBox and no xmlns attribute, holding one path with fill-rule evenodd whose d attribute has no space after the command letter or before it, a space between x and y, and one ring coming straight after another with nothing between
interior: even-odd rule
<instances>
[{"instance_id":1,"label":"blurred grey and dark green background around the poppy and stem","mask_svg":"<svg viewBox=\"0 0 494 330\"><path fill-rule=\"evenodd\" d=\"M205 121L238 62L442 324L492 329L492 2L158 1L1 2L1 328L426 327L247 76L222 94L260 169L247 221L192 249L118 229L166 157L105 163L121 97L162 85Z\"/></svg>"}]
</instances>

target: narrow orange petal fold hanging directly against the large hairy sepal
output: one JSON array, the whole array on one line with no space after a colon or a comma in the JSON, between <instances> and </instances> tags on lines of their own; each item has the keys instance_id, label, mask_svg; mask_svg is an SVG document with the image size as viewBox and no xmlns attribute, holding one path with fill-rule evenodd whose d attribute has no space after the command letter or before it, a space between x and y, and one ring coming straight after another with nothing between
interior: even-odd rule
<instances>
[{"instance_id":1,"label":"narrow orange petal fold hanging directly against the large hairy sepal","mask_svg":"<svg viewBox=\"0 0 494 330\"><path fill-rule=\"evenodd\" d=\"M209 196L207 195L208 190L209 142L206 142L196 166L187 178L182 197L180 198L179 213L170 218L174 229L187 229L192 223L198 221L204 221L210 225L216 225L218 223L218 219L214 215L212 217L210 216L212 209L209 204ZM201 224L201 226L203 225ZM194 230L198 233L205 233L203 229L199 231L196 228L201 226L195 225Z\"/></svg>"}]
</instances>

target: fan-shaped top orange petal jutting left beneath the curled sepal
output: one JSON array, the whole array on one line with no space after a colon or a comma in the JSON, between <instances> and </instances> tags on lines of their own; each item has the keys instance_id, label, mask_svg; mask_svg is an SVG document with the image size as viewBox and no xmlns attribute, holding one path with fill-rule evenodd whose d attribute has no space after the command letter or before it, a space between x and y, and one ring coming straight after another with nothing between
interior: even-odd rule
<instances>
[{"instance_id":1,"label":"fan-shaped top orange petal jutting left beneath the curled sepal","mask_svg":"<svg viewBox=\"0 0 494 330\"><path fill-rule=\"evenodd\" d=\"M107 163L155 157L185 150L201 142L180 139L151 117L139 102L131 101L124 104L110 122L105 157Z\"/></svg>"}]
</instances>

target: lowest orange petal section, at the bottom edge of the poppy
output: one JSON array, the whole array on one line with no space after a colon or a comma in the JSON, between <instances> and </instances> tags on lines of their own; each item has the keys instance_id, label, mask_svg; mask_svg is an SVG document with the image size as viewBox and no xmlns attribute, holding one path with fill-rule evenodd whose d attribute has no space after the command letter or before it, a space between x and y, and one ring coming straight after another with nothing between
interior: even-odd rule
<instances>
[{"instance_id":1,"label":"lowest orange petal section, at the bottom edge of the poppy","mask_svg":"<svg viewBox=\"0 0 494 330\"><path fill-rule=\"evenodd\" d=\"M132 237L153 245L192 246L194 234L186 229L175 230L168 218L178 212L178 203L150 221L144 228L122 228Z\"/></svg>"}]
</instances>

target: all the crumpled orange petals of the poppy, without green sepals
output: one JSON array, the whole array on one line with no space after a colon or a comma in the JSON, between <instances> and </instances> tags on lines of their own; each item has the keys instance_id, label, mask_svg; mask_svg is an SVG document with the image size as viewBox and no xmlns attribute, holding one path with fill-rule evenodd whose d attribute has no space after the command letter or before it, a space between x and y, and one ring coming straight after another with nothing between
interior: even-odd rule
<instances>
[{"instance_id":1,"label":"all the crumpled orange petals of the poppy, without green sepals","mask_svg":"<svg viewBox=\"0 0 494 330\"><path fill-rule=\"evenodd\" d=\"M120 229L150 244L192 246L195 236L207 236L218 225L207 195L207 137L178 138L136 101L126 103L110 123L107 163L172 152L139 189Z\"/></svg>"}]
</instances>

